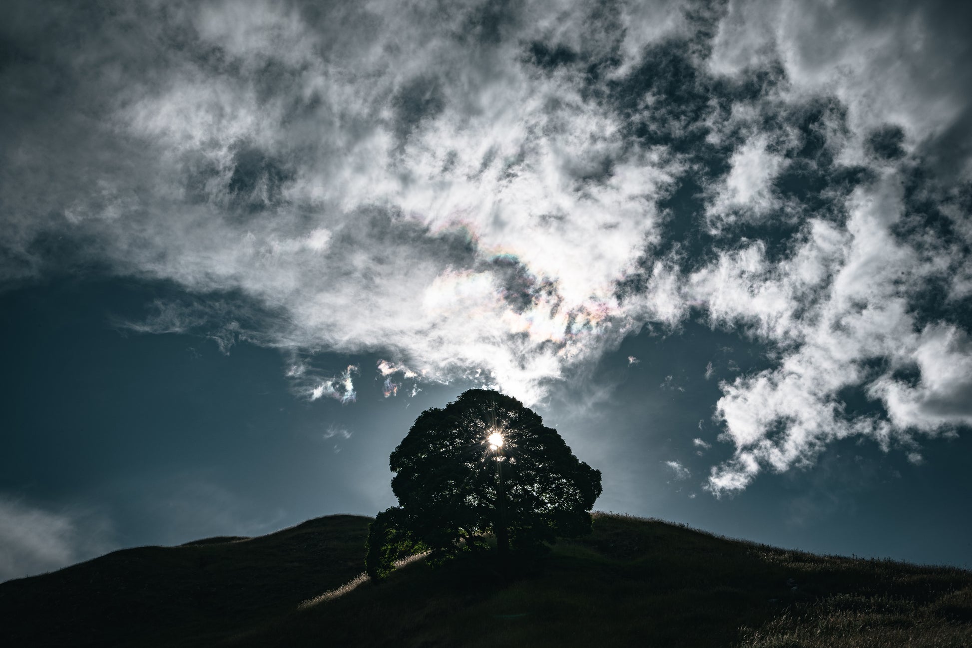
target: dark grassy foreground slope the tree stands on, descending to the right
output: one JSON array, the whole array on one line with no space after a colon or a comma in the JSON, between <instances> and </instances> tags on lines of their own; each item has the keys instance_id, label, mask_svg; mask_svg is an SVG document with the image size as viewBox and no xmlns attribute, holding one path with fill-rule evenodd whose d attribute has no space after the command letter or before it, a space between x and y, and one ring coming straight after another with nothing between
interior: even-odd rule
<instances>
[{"instance_id":1,"label":"dark grassy foreground slope the tree stands on, descending to the right","mask_svg":"<svg viewBox=\"0 0 972 648\"><path fill-rule=\"evenodd\" d=\"M972 574L782 551L600 514L511 581L415 563L240 646L969 646ZM856 643L853 643L855 641Z\"/></svg>"}]
</instances>

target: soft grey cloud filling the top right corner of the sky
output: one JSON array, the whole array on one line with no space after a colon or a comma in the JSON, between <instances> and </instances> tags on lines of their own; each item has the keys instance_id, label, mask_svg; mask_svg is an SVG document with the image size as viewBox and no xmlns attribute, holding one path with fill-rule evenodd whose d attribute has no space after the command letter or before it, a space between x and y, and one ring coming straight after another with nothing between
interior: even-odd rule
<instances>
[{"instance_id":1,"label":"soft grey cloud filling the top right corner of the sky","mask_svg":"<svg viewBox=\"0 0 972 648\"><path fill-rule=\"evenodd\" d=\"M967 8L946 2L893 2L877 16L866 2L733 1L719 22L710 61L730 76L779 65L788 92L836 96L857 133L899 123L909 145L931 143L950 127L968 126L972 76L930 72L940 61L967 56L957 25L968 17Z\"/></svg>"}]
</instances>

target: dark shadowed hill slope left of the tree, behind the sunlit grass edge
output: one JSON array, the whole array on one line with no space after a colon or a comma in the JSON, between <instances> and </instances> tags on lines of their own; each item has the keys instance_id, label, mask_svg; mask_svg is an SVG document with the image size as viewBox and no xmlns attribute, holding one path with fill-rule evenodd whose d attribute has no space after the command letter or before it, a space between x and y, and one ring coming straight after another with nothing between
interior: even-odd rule
<instances>
[{"instance_id":1,"label":"dark shadowed hill slope left of the tree, behind the sunlit grass edge","mask_svg":"<svg viewBox=\"0 0 972 648\"><path fill-rule=\"evenodd\" d=\"M8 581L0 643L212 645L353 578L370 521L332 515L254 538L123 549Z\"/></svg>"}]
</instances>

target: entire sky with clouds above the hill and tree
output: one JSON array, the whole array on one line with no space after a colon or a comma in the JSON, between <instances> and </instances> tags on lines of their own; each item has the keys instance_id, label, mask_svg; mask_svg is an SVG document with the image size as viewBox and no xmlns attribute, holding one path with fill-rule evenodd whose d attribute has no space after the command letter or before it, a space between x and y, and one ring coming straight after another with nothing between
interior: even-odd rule
<instances>
[{"instance_id":1,"label":"entire sky with clouds above the hill and tree","mask_svg":"<svg viewBox=\"0 0 972 648\"><path fill-rule=\"evenodd\" d=\"M968 3L0 9L0 579L395 503L471 387L598 509L972 567Z\"/></svg>"}]
</instances>

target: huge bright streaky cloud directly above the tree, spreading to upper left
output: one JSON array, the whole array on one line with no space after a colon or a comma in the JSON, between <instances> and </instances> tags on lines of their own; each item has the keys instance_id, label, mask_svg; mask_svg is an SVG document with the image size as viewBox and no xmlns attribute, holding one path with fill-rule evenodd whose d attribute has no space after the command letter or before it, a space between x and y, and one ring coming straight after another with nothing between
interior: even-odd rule
<instances>
[{"instance_id":1,"label":"huge bright streaky cloud directly above the tree, spreading to upper left","mask_svg":"<svg viewBox=\"0 0 972 648\"><path fill-rule=\"evenodd\" d=\"M59 205L37 209L31 200L46 190L14 190L8 175L23 234L12 254L24 267L41 263L29 243L41 232L93 240L83 254L122 275L282 311L286 324L264 329L264 343L386 349L429 379L482 369L529 402L629 330L615 317L614 282L657 239L656 201L677 164L661 147L631 146L581 77L524 62L522 43L567 38L566 18L531 22L546 12L524 8L522 23L510 16L516 38L469 49L454 35L475 8L451 25L421 7L133 11L146 14L137 37L114 22L77 28L137 38L158 54L145 61L153 82L109 85L79 62L72 74L86 93L61 109L97 102L106 117L91 146L107 156L124 141L144 154L123 154L123 169L54 164L49 175L78 177L55 182ZM168 48L165 30L185 34L185 48ZM112 55L91 36L80 58L52 57ZM590 55L612 47L581 43ZM28 127L19 146L53 155L80 137ZM160 310L131 328L196 323L180 314ZM224 333L215 339L227 348L234 334Z\"/></svg>"}]
</instances>

